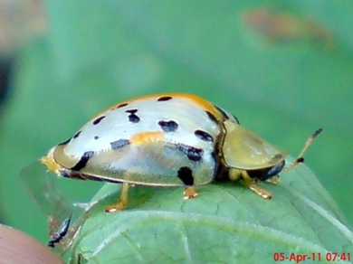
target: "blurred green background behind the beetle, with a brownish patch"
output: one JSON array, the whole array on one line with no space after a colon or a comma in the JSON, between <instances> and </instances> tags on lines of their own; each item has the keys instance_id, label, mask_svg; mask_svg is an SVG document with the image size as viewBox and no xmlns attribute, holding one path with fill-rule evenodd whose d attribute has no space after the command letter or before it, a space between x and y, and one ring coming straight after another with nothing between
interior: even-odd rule
<instances>
[{"instance_id":1,"label":"blurred green background behind the beetle, with a brownish patch","mask_svg":"<svg viewBox=\"0 0 353 264\"><path fill-rule=\"evenodd\" d=\"M0 108L1 222L47 240L19 171L111 104L171 91L213 101L291 156L324 127L307 165L353 222L353 2L28 3L10 12L18 35L0 32L3 63L12 61ZM62 184L77 199L101 186Z\"/></svg>"}]
</instances>

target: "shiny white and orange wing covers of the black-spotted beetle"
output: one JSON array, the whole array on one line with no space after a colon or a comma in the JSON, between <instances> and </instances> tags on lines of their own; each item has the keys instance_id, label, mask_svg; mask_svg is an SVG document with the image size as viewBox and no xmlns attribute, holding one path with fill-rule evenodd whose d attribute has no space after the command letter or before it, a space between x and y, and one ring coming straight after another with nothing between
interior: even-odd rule
<instances>
[{"instance_id":1,"label":"shiny white and orange wing covers of the black-spotted beetle","mask_svg":"<svg viewBox=\"0 0 353 264\"><path fill-rule=\"evenodd\" d=\"M66 173L81 165L76 173L111 182L185 185L176 176L181 167L191 170L193 185L211 182L218 163L215 145L224 133L220 126L224 114L211 103L191 95L166 97L135 99L100 113L81 127L78 137L56 146L52 150L53 159ZM129 115L134 115L133 121ZM237 123L231 115L225 115ZM100 122L94 125L97 118ZM166 132L159 121L172 121L177 127ZM196 137L196 130L213 140ZM123 142L122 146L112 148L111 143L117 141ZM82 156L87 153L90 157L83 163Z\"/></svg>"}]
</instances>

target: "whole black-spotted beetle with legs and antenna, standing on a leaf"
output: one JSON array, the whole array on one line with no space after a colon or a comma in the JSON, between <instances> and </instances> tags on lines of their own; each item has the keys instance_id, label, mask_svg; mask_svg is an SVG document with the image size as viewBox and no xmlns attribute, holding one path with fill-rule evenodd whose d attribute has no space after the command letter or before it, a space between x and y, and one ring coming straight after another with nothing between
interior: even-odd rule
<instances>
[{"instance_id":1,"label":"whole black-spotted beetle with legs and antenna, standing on a leaf","mask_svg":"<svg viewBox=\"0 0 353 264\"><path fill-rule=\"evenodd\" d=\"M303 162L303 154L322 129L307 140L301 154L285 166L288 153L240 126L233 115L191 94L150 95L116 104L92 118L73 136L52 147L41 161L68 178L122 184L119 201L128 203L129 185L184 186L184 198L196 186L222 177L243 184L262 198L272 194L259 182L278 182L281 171Z\"/></svg>"}]
</instances>

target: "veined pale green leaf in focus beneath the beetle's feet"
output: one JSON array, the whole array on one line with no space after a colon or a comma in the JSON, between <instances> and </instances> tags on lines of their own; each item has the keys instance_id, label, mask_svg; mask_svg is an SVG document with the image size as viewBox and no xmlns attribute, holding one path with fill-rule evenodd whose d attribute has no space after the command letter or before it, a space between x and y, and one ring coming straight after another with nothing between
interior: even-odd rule
<instances>
[{"instance_id":1,"label":"veined pale green leaf in focus beneath the beetle's feet","mask_svg":"<svg viewBox=\"0 0 353 264\"><path fill-rule=\"evenodd\" d=\"M263 263L275 253L352 252L353 234L329 194L305 165L282 174L263 200L241 184L200 186L196 199L182 188L130 188L128 208L104 212L116 202L117 184L106 184L100 203L75 237L71 261L85 263ZM111 193L116 193L111 199Z\"/></svg>"}]
</instances>

